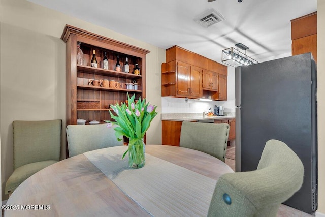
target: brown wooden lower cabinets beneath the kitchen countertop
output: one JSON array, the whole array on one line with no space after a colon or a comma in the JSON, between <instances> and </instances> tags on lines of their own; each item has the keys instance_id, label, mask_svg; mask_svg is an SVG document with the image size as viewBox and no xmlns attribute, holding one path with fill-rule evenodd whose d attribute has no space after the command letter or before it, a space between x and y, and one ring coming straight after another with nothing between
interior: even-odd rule
<instances>
[{"instance_id":1,"label":"brown wooden lower cabinets beneath the kitchen countertop","mask_svg":"<svg viewBox=\"0 0 325 217\"><path fill-rule=\"evenodd\" d=\"M218 120L214 120L214 123L228 123L230 126L228 140L230 141L235 139L236 118L222 119L222 120L218 119ZM179 146L181 128L182 128L182 121L163 120L163 134L162 134L163 145Z\"/></svg>"}]
</instances>

